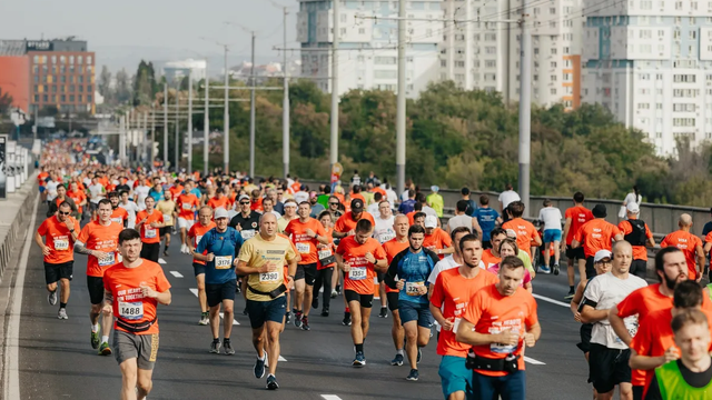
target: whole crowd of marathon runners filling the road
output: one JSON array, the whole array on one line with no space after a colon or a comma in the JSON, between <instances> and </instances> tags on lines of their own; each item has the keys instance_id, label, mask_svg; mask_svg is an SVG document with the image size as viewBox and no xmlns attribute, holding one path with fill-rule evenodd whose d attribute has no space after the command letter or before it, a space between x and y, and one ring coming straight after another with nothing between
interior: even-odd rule
<instances>
[{"instance_id":1,"label":"whole crowd of marathon runners filling the road","mask_svg":"<svg viewBox=\"0 0 712 400\"><path fill-rule=\"evenodd\" d=\"M540 232L522 218L524 203L511 187L497 204L473 200L464 188L444 220L439 188L426 193L408 182L396 193L374 173L309 188L298 178L69 162L55 157L58 146L46 150L52 157L37 178L47 219L34 239L48 301L59 303L59 319L69 318L75 253L86 254L90 343L100 356L115 354L122 399L151 390L158 304L171 302L158 261L171 241L178 257L192 259L198 288L196 319L186 323L210 327L206 350L235 354L233 316L243 297L254 374L267 376L270 390L279 388L286 324L308 331L312 310L329 316L343 307L352 364L363 368L376 307L377 317L393 321L390 363L407 363L407 380L418 380L422 349L433 338L445 399L525 399L525 348L542 334L535 278L558 274L565 254L570 291L562 297L571 301L572 329L580 326L594 399L611 399L616 387L622 399L712 398L712 302L699 283L712 233L692 234L688 214L660 243L659 283L647 284L647 249L656 243L635 202L615 226L605 206L586 209L583 193L563 214L546 201Z\"/></svg>"}]
</instances>

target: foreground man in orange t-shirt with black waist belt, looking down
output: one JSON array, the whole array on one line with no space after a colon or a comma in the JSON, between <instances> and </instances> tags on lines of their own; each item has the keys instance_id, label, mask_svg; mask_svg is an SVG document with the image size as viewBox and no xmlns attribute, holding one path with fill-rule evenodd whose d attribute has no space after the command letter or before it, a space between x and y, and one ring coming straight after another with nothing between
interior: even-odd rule
<instances>
[{"instance_id":1,"label":"foreground man in orange t-shirt with black waist belt, looking down","mask_svg":"<svg viewBox=\"0 0 712 400\"><path fill-rule=\"evenodd\" d=\"M500 266L500 281L479 290L467 303L455 340L471 344L476 354L475 398L497 398L504 384L512 399L525 399L524 347L533 347L542 329L534 297L520 287L524 263L506 257ZM516 358L515 366L505 360L511 356Z\"/></svg>"}]
</instances>

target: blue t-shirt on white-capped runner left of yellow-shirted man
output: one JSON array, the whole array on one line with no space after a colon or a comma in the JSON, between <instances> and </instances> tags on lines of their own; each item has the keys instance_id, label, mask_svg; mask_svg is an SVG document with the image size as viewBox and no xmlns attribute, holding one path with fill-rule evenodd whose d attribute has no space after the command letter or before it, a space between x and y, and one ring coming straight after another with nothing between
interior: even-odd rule
<instances>
[{"instance_id":1,"label":"blue t-shirt on white-capped runner left of yellow-shirted man","mask_svg":"<svg viewBox=\"0 0 712 400\"><path fill-rule=\"evenodd\" d=\"M205 266L206 283L219 284L237 279L233 261L239 254L244 242L240 233L231 227L227 227L221 233L217 228L212 228L202 236L196 251L201 253L207 250L215 256L212 261L206 262Z\"/></svg>"}]
</instances>

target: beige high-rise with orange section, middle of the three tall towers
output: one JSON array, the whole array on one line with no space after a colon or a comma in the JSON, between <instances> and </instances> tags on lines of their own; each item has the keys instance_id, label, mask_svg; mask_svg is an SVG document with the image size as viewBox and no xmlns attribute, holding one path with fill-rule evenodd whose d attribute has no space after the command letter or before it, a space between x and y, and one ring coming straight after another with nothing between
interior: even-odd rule
<instances>
[{"instance_id":1,"label":"beige high-rise with orange section, middle of the three tall towers","mask_svg":"<svg viewBox=\"0 0 712 400\"><path fill-rule=\"evenodd\" d=\"M532 33L532 101L542 106L580 106L581 0L443 1L439 79L472 90L502 92L505 101L520 97L520 40L516 23L523 12Z\"/></svg>"}]
</instances>

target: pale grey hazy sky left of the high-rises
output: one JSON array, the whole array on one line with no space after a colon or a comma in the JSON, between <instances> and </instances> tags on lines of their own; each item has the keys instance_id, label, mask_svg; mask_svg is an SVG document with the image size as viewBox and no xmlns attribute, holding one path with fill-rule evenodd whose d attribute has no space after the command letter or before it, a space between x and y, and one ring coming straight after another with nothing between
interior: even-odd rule
<instances>
[{"instance_id":1,"label":"pale grey hazy sky left of the high-rises","mask_svg":"<svg viewBox=\"0 0 712 400\"><path fill-rule=\"evenodd\" d=\"M296 47L296 0L21 0L2 1L6 18L0 39L40 39L76 36L87 40L101 63L122 57L127 50L158 58L214 57L222 49L215 41L233 44L230 53L249 54L250 37L234 22L257 32L256 54L280 59L273 46L283 42L283 11L286 6L288 47ZM10 6L11 4L11 6ZM17 16L8 18L9 14ZM201 40L208 38L209 41ZM131 49L136 48L136 49ZM159 51L165 49L166 51ZM192 52L191 52L192 51ZM167 53L169 56L165 56ZM164 60L165 61L165 60Z\"/></svg>"}]
</instances>

